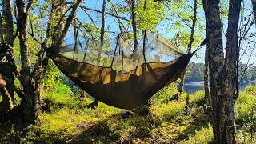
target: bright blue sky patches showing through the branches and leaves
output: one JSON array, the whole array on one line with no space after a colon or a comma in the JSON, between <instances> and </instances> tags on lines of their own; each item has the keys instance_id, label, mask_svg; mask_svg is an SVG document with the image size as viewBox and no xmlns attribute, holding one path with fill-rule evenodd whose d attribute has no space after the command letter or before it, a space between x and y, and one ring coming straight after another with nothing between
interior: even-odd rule
<instances>
[{"instance_id":1,"label":"bright blue sky patches showing through the branches and leaves","mask_svg":"<svg viewBox=\"0 0 256 144\"><path fill-rule=\"evenodd\" d=\"M112 0L112 2L117 3L118 0ZM191 3L189 5L193 6L193 5L191 5ZM222 4L222 6L224 6L224 5L225 4ZM86 1L86 6L92 8L94 10L102 11L102 0ZM108 3L107 3L106 7L110 8ZM245 7L250 8L250 1L248 1L248 2L245 1ZM100 19L101 18L101 14L98 14L96 12L92 12L92 11L89 11L89 10L87 10L87 12L90 13L92 18L94 18L94 19ZM202 9L198 13L199 13L199 17L204 19L204 13L203 13ZM86 22L90 22L90 18L82 10L78 10L78 17L79 18L84 18L86 20ZM122 17L126 17L126 18L130 19L129 15L122 15ZM99 24L100 24L100 22L98 21L98 26L99 26ZM204 23L202 22L202 25L203 24ZM115 31L116 32L116 34L113 34L113 35L117 35L119 33L119 28L118 28L118 25L117 25L117 19L116 18L113 18L109 15L106 15L106 26L108 26L108 29L110 31ZM175 34L175 30L174 30L174 32L168 31L168 33L166 34L166 26L168 26L168 22L159 23L159 26L157 27L157 29L159 30L159 34L162 34L162 35L166 36L166 38L173 38L174 34ZM184 26L186 27L185 24L184 24ZM223 26L224 27L227 26L226 21L223 22ZM225 29L226 28L224 28L223 31L226 31ZM200 31L200 32L202 33L202 35L205 35L205 30ZM252 26L252 28L249 30L249 33L253 34L255 32L256 32L255 26ZM222 39L223 39L223 46L225 47L226 46L226 37L225 37L224 34L223 34ZM246 48L248 48L248 46L254 47L254 44L255 44L254 39L255 39L255 37L252 36L252 37L248 38L246 40L246 42L242 43L242 52L241 53L244 53L244 50ZM250 41L250 43L248 43L249 41ZM195 47L194 47L194 50L195 50ZM186 51L186 50L184 50L184 51ZM205 53L205 47L202 47L201 50L198 50L197 56L194 56L190 60L190 62L202 62L203 63L204 62L204 53ZM255 54L255 50L246 50L246 53L247 54L244 54L243 57L241 58L242 63L246 63L248 58L250 57L250 54L251 53ZM250 58L250 62L254 62L254 61L256 61L255 55Z\"/></svg>"}]
</instances>

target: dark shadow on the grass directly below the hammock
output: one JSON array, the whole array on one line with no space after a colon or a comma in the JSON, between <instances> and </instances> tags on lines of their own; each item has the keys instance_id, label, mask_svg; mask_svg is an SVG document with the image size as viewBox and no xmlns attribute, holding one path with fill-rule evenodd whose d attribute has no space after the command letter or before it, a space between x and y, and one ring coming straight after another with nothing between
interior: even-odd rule
<instances>
[{"instance_id":1,"label":"dark shadow on the grass directly below the hammock","mask_svg":"<svg viewBox=\"0 0 256 144\"><path fill-rule=\"evenodd\" d=\"M109 121L113 121L113 123L110 124ZM123 127L127 125L133 129L128 130L129 128ZM116 127L110 128L112 126ZM85 127L86 130L71 139L69 143L131 143L136 138L149 138L148 128L150 128L150 120L147 117L135 114L130 115L127 119L122 119L120 114L115 114L109 119Z\"/></svg>"}]
</instances>

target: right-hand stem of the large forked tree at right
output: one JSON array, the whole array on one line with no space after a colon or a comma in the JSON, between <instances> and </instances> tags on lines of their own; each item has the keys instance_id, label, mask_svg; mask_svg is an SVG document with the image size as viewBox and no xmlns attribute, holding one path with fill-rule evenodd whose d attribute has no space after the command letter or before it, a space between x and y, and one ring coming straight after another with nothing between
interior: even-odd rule
<instances>
[{"instance_id":1,"label":"right-hand stem of the large forked tree at right","mask_svg":"<svg viewBox=\"0 0 256 144\"><path fill-rule=\"evenodd\" d=\"M238 22L242 0L230 0L224 65L225 83L225 126L228 143L235 143L234 105L238 98Z\"/></svg>"}]
</instances>

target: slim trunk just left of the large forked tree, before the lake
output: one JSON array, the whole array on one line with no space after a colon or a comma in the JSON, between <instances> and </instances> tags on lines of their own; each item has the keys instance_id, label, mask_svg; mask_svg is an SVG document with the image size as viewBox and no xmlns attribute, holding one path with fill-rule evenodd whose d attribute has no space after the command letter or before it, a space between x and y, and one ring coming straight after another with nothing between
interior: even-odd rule
<instances>
[{"instance_id":1,"label":"slim trunk just left of the large forked tree, before the lake","mask_svg":"<svg viewBox=\"0 0 256 144\"><path fill-rule=\"evenodd\" d=\"M209 91L209 62L208 62L208 44L206 44L205 51L205 66L203 71L204 88L205 88L205 102L210 106L210 91Z\"/></svg>"}]
</instances>

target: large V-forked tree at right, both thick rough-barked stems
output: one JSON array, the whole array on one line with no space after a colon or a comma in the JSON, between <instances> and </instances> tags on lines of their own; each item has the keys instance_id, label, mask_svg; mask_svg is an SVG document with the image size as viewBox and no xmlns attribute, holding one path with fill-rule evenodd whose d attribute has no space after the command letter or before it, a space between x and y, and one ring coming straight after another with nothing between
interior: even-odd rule
<instances>
[{"instance_id":1,"label":"large V-forked tree at right, both thick rough-barked stems","mask_svg":"<svg viewBox=\"0 0 256 144\"><path fill-rule=\"evenodd\" d=\"M234 127L234 102L238 60L238 20L241 0L230 0L226 59L222 44L222 22L219 0L202 0L206 14L206 37L208 38L210 96L213 110L213 128L215 143L236 143Z\"/></svg>"}]
</instances>

